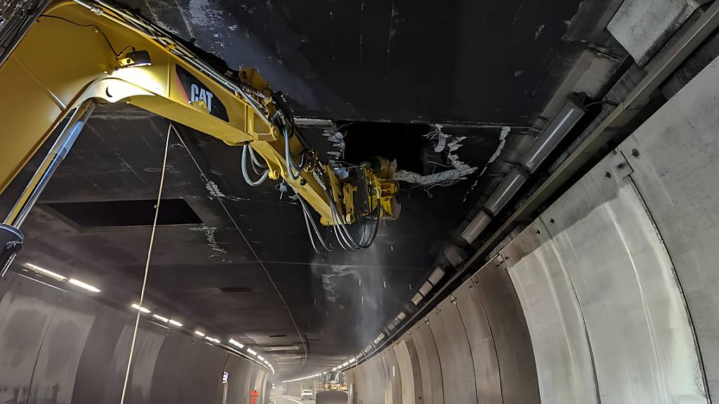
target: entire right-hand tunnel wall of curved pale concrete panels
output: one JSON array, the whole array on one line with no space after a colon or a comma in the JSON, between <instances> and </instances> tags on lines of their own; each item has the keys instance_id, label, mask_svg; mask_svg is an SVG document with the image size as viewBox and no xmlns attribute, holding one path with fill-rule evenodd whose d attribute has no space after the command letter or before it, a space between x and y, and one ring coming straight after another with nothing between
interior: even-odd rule
<instances>
[{"instance_id":1,"label":"entire right-hand tunnel wall of curved pale concrete panels","mask_svg":"<svg viewBox=\"0 0 719 404\"><path fill-rule=\"evenodd\" d=\"M406 334L350 403L719 401L719 60Z\"/></svg>"}]
</instances>

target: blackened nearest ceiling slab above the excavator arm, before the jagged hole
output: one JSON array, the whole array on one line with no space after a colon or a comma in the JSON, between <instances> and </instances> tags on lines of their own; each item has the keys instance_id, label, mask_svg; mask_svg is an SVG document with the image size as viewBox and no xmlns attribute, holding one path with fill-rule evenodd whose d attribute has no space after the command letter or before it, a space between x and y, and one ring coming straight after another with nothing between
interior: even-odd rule
<instances>
[{"instance_id":1,"label":"blackened nearest ceiling slab above the excavator arm, before the jagged hole","mask_svg":"<svg viewBox=\"0 0 719 404\"><path fill-rule=\"evenodd\" d=\"M580 0L122 0L255 67L300 116L531 123ZM591 2L591 1L590 1ZM594 1L602 3L602 1ZM577 45L576 43L574 45Z\"/></svg>"}]
</instances>

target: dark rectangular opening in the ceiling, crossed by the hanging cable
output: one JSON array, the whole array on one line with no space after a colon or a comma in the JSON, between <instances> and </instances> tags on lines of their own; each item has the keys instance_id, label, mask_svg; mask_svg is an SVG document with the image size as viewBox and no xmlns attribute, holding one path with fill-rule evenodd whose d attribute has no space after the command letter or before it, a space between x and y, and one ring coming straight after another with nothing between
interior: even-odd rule
<instances>
[{"instance_id":1,"label":"dark rectangular opening in the ceiling, crossed by the hanging cable","mask_svg":"<svg viewBox=\"0 0 719 404\"><path fill-rule=\"evenodd\" d=\"M152 226L155 199L45 203L81 227ZM184 199L162 199L157 224L202 224Z\"/></svg>"}]
</instances>

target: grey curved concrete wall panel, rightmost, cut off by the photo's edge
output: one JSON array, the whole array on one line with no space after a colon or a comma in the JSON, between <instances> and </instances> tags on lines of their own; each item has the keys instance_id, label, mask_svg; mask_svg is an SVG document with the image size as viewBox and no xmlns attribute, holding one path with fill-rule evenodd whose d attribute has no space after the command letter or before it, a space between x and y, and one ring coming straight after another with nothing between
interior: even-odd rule
<instances>
[{"instance_id":1,"label":"grey curved concrete wall panel, rightmost, cut off by the photo's edge","mask_svg":"<svg viewBox=\"0 0 719 404\"><path fill-rule=\"evenodd\" d=\"M718 96L715 59L619 147L672 257L714 402L719 401Z\"/></svg>"}]
</instances>

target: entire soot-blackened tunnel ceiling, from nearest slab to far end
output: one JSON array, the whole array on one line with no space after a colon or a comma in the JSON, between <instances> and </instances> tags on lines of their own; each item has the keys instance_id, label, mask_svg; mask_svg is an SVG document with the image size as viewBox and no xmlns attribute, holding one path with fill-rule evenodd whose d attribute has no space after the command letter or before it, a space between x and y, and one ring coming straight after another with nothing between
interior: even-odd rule
<instances>
[{"instance_id":1,"label":"entire soot-blackened tunnel ceiling, from nearest slab to far end","mask_svg":"<svg viewBox=\"0 0 719 404\"><path fill-rule=\"evenodd\" d=\"M587 47L582 35L603 27L587 4L604 12L603 1L577 0L127 1L231 68L259 68L297 116L336 121L349 134L347 157L385 155L431 173L427 123L441 122L462 138L457 156L477 168L447 188L403 184L400 220L386 221L371 249L316 254L301 208L280 198L275 182L249 187L239 149L178 127L186 147L170 141L168 216L146 306L187 329L257 346L278 377L357 354L411 304L482 197L480 173L500 152L518 153L519 135ZM32 262L96 285L96 298L119 308L137 301L168 124L124 105L96 111L24 224L27 247L14 270ZM321 129L306 135L326 151ZM4 208L33 164L2 196Z\"/></svg>"}]
</instances>

